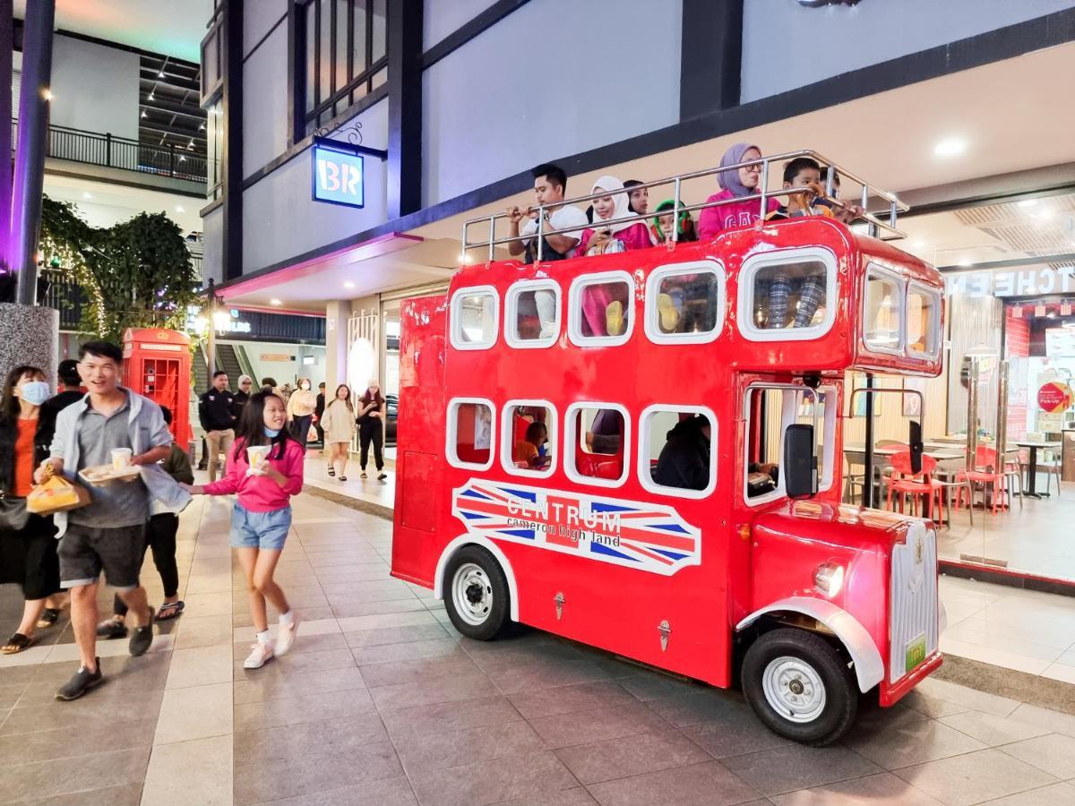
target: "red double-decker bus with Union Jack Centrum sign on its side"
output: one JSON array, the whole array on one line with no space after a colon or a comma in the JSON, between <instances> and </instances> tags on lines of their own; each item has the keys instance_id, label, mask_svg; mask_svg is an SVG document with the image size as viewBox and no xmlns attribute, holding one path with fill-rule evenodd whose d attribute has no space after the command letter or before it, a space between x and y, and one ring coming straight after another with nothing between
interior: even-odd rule
<instances>
[{"instance_id":1,"label":"red double-decker bus with Union Jack Centrum sign on its side","mask_svg":"<svg viewBox=\"0 0 1075 806\"><path fill-rule=\"evenodd\" d=\"M842 503L845 373L941 372L932 267L814 216L465 265L402 319L391 573L463 635L739 679L818 745L941 664L932 524Z\"/></svg>"}]
</instances>

